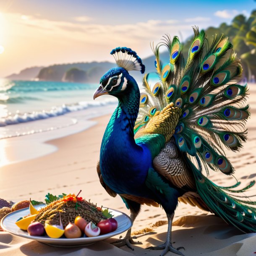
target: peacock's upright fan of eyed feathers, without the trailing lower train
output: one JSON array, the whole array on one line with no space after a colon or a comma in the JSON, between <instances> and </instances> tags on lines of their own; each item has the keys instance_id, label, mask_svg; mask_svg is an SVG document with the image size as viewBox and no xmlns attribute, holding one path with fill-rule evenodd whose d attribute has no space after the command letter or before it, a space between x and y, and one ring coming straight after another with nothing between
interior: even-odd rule
<instances>
[{"instance_id":1,"label":"peacock's upright fan of eyed feathers, without the trailing lower train","mask_svg":"<svg viewBox=\"0 0 256 256\"><path fill-rule=\"evenodd\" d=\"M209 47L204 31L193 29L195 36L186 63L178 37L171 40L165 35L162 43L153 45L157 80L151 73L144 76L134 131L145 127L157 111L173 102L183 111L174 134L180 151L191 158L198 156L207 174L210 168L230 175L234 169L224 148L237 151L246 141L248 89L236 84L242 67L227 37L216 36ZM170 54L166 65L159 57L162 45Z\"/></svg>"}]
</instances>

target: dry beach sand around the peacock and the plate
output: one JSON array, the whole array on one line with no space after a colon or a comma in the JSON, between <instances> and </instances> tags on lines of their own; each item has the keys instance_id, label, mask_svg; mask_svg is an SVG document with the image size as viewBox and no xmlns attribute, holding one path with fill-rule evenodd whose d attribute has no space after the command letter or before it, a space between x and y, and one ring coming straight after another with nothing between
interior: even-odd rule
<instances>
[{"instance_id":1,"label":"dry beach sand around the peacock and the plate","mask_svg":"<svg viewBox=\"0 0 256 256\"><path fill-rule=\"evenodd\" d=\"M227 157L236 170L235 177L244 186L256 177L255 85L251 85L250 89L251 119L248 120L247 142L240 152L227 152ZM60 193L78 193L81 189L81 196L85 199L91 199L98 205L129 214L119 196L112 198L107 194L100 185L96 172L100 144L109 119L110 115L95 118L97 125L86 131L47 141L47 144L58 148L52 154L2 167L0 170L0 198L12 201L29 198L43 201L48 192L58 195ZM24 150L26 150L26 144L24 144ZM218 185L226 186L236 182L232 176L226 176L220 172L212 172L210 178ZM247 194L256 194L256 189L250 189ZM8 232L0 232L0 255L158 256L161 251L145 250L145 248L165 242L166 221L163 209L142 206L141 213L133 224L132 232L144 228L151 229L151 232L137 235L137 240L143 244L133 246L134 251L127 247L117 248L110 244L120 235L91 246L67 249L55 248L34 240L10 235ZM156 223L158 225L155 225ZM253 256L256 252L255 234L243 234L227 225L222 219L188 204L178 205L172 230L173 246L183 246L185 251L183 249L180 251L185 256ZM124 236L125 233L121 235ZM175 254L169 252L167 255Z\"/></svg>"}]
</instances>

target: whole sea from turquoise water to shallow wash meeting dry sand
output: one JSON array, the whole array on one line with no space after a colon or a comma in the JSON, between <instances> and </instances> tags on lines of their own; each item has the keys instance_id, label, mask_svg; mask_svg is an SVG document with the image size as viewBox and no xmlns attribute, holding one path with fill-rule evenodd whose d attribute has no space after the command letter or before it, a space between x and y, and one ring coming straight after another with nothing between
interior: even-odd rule
<instances>
[{"instance_id":1,"label":"whole sea from turquoise water to shallow wash meeting dry sand","mask_svg":"<svg viewBox=\"0 0 256 256\"><path fill-rule=\"evenodd\" d=\"M98 84L0 80L0 166L57 150L46 141L83 131L111 114L117 99L93 100Z\"/></svg>"}]
</instances>

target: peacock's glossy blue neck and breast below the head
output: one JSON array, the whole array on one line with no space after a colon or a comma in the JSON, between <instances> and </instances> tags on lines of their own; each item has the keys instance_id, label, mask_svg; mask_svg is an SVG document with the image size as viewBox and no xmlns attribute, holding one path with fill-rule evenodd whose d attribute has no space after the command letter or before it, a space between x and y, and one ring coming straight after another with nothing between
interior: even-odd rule
<instances>
[{"instance_id":1,"label":"peacock's glossy blue neck and breast below the head","mask_svg":"<svg viewBox=\"0 0 256 256\"><path fill-rule=\"evenodd\" d=\"M134 81L132 85L127 86L125 94L119 97L118 107L102 139L102 177L117 193L128 193L133 188L133 181L136 181L134 185L142 186L152 162L150 152L145 152L134 140L133 128L138 115L139 99L140 92Z\"/></svg>"}]
</instances>

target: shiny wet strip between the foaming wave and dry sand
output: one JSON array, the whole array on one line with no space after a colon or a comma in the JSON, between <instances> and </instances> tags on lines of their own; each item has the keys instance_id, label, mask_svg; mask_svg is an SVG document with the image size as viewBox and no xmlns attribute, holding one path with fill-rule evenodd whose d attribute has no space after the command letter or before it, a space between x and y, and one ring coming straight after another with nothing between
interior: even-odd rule
<instances>
[{"instance_id":1,"label":"shiny wet strip between the foaming wave and dry sand","mask_svg":"<svg viewBox=\"0 0 256 256\"><path fill-rule=\"evenodd\" d=\"M114 104L108 104L101 111L99 111L99 107L94 107L46 120L11 125L12 127L8 128L7 133L15 133L15 131L16 133L17 131L20 133L24 131L33 132L23 136L14 135L11 138L0 139L0 147L2 148L0 151L0 167L54 153L58 150L57 147L47 143L47 141L86 131L97 124L94 121L95 118L112 114L114 108ZM37 129L40 127L42 130L37 131L36 127ZM2 134L5 132L4 129L7 128L2 128L1 130L0 127ZM13 132L11 131L12 129ZM26 151L24 151L25 144Z\"/></svg>"}]
</instances>

